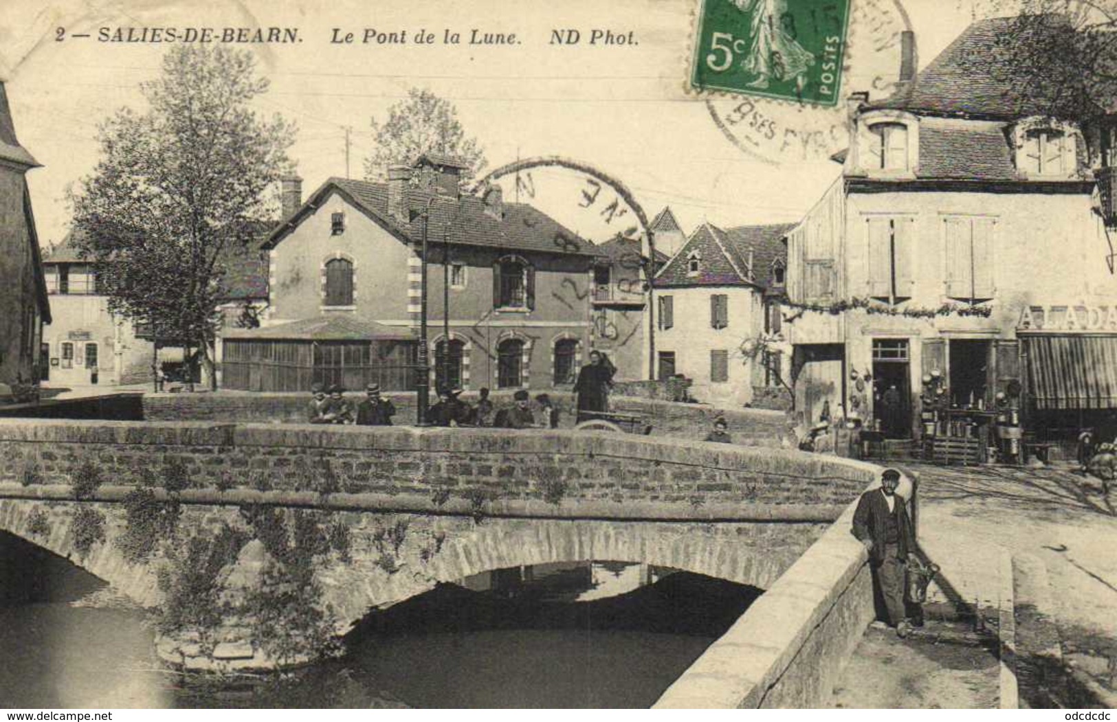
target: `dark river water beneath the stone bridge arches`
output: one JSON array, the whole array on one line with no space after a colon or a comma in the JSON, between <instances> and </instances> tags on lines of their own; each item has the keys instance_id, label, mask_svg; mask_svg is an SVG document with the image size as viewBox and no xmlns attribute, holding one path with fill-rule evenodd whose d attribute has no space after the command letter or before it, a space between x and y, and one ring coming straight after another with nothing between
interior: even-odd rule
<instances>
[{"instance_id":1,"label":"dark river water beneath the stone bridge arches","mask_svg":"<svg viewBox=\"0 0 1117 722\"><path fill-rule=\"evenodd\" d=\"M371 614L297 674L188 677L142 609L0 533L0 707L646 707L757 594L623 562L494 570Z\"/></svg>"}]
</instances>

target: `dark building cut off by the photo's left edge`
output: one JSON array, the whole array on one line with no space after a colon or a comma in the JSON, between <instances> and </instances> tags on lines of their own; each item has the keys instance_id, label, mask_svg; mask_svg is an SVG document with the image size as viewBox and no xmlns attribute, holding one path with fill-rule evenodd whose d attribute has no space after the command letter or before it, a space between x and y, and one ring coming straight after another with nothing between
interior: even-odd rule
<instances>
[{"instance_id":1,"label":"dark building cut off by the photo's left edge","mask_svg":"<svg viewBox=\"0 0 1117 722\"><path fill-rule=\"evenodd\" d=\"M50 304L39 257L26 174L39 167L16 138L0 81L0 384L38 381L45 359L42 325Z\"/></svg>"}]
</instances>

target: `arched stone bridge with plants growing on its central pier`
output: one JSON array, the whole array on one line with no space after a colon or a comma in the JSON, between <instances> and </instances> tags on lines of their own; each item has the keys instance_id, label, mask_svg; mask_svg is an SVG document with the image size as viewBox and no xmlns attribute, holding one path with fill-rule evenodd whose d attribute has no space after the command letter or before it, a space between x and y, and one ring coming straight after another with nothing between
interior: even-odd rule
<instances>
[{"instance_id":1,"label":"arched stone bridge with plants growing on its central pier","mask_svg":"<svg viewBox=\"0 0 1117 722\"><path fill-rule=\"evenodd\" d=\"M90 474L102 483L76 500L75 480ZM136 487L179 501L187 537L250 539L246 509L309 511L345 529L344 553L314 570L316 605L344 634L438 583L550 561L647 562L772 589L875 474L800 452L605 433L0 420L0 530L159 609L161 552L133 564L122 551ZM103 519L92 546L79 509ZM259 579L259 547L245 542L222 569L222 594ZM241 623L216 629L216 646L179 634L160 652L187 667L276 664Z\"/></svg>"}]
</instances>

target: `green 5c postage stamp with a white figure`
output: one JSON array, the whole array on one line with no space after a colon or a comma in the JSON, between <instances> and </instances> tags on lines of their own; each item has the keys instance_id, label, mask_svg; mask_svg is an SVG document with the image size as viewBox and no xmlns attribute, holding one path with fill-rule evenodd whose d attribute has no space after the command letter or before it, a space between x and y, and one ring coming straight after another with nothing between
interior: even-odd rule
<instances>
[{"instance_id":1,"label":"green 5c postage stamp with a white figure","mask_svg":"<svg viewBox=\"0 0 1117 722\"><path fill-rule=\"evenodd\" d=\"M690 84L836 105L851 0L699 0Z\"/></svg>"}]
</instances>

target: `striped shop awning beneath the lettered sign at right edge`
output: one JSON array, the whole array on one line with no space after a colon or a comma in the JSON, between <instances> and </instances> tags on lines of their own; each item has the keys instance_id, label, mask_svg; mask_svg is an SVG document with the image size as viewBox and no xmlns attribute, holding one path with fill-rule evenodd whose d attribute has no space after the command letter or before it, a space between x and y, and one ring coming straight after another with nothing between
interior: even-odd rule
<instances>
[{"instance_id":1,"label":"striped shop awning beneath the lettered sign at right edge","mask_svg":"<svg viewBox=\"0 0 1117 722\"><path fill-rule=\"evenodd\" d=\"M1032 336L1025 343L1037 408L1117 408L1117 336Z\"/></svg>"}]
</instances>

